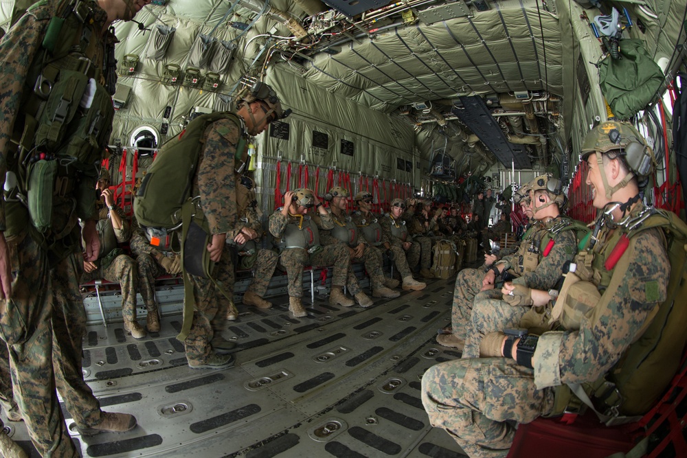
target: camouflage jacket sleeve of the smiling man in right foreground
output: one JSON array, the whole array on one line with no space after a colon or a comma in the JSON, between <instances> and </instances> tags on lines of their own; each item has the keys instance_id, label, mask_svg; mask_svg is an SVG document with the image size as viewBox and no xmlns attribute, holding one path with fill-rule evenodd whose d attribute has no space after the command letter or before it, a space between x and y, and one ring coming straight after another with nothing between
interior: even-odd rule
<instances>
[{"instance_id":1,"label":"camouflage jacket sleeve of the smiling man in right foreground","mask_svg":"<svg viewBox=\"0 0 687 458\"><path fill-rule=\"evenodd\" d=\"M636 205L631 214L643 208ZM594 255L609 253L608 231L600 234ZM660 229L647 229L630 239L616 264L609 286L591 316L576 331L545 332L534 351L538 389L563 383L592 382L606 374L638 338L654 308L666 299L671 266Z\"/></svg>"}]
</instances>

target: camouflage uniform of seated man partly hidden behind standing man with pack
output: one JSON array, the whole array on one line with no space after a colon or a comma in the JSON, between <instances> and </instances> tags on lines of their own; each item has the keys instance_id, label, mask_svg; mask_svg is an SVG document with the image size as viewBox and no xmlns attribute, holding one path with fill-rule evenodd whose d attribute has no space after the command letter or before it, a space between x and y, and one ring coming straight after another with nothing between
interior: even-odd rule
<instances>
[{"instance_id":1,"label":"camouflage uniform of seated man partly hidden behind standing man with pack","mask_svg":"<svg viewBox=\"0 0 687 458\"><path fill-rule=\"evenodd\" d=\"M248 190L245 185L241 184L241 176L239 174L236 174L236 198L238 200L238 222L234 229L227 232L227 244L232 247L231 249L238 252L240 268L253 268L255 266L255 274L248 288L246 288L246 292L252 291L262 297L264 293L267 293L269 280L272 278L274 269L279 262L279 255L275 251L259 247L260 239L265 235L265 232L262 228L262 223L260 223L260 214L258 214L256 209L255 194L252 190ZM236 249L236 244L232 242L244 227L253 229L258 233L258 236L252 240L256 245L256 257L254 260L249 260L249 255L242 255L242 250ZM244 259L247 261L247 264L244 262ZM234 285L229 288L227 293L229 292L234 293Z\"/></svg>"}]
</instances>

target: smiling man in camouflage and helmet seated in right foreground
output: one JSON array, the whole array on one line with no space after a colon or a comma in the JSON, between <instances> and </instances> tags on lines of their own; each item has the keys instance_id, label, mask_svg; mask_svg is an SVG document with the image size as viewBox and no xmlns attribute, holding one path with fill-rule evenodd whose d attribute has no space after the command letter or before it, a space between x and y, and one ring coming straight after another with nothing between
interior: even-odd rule
<instances>
[{"instance_id":1,"label":"smiling man in camouflage and helmet seated in right foreground","mask_svg":"<svg viewBox=\"0 0 687 458\"><path fill-rule=\"evenodd\" d=\"M585 139L583 158L591 153L586 159L586 180L594 207L604 210L622 204L611 207L609 222L602 221L606 217L600 212L597 221L603 227L598 241L594 245L587 242L576 258L579 266L585 265L582 257L593 253L602 257L600 265L605 268L604 259L618 246L610 246L616 242L605 225L615 227L623 218L634 218L644 210L638 198L638 179L633 178L639 172L621 155L628 140L609 144L603 139L610 130L622 130L623 138L641 138L633 129L628 135L628 128L617 122L602 123ZM599 145L604 144L607 148L600 150ZM643 154L653 156L649 148L645 151ZM470 457L496 458L508 454L515 424L561 415L566 405L554 403L559 390L567 389L565 384L595 382L606 374L639 338L652 312L666 298L671 266L660 229L638 231L616 261L610 278L603 280L607 287L597 291L594 300L598 302L589 304L592 308L583 315L578 329L544 332L530 341L533 352L521 348L521 339L493 332L482 339L480 358L449 361L427 370L422 398L431 424L446 429ZM597 289L601 272L596 267L592 270L594 275L581 275ZM506 297L514 290L511 285L502 293ZM534 306L545 306L552 299L545 290L532 289L528 295Z\"/></svg>"}]
</instances>

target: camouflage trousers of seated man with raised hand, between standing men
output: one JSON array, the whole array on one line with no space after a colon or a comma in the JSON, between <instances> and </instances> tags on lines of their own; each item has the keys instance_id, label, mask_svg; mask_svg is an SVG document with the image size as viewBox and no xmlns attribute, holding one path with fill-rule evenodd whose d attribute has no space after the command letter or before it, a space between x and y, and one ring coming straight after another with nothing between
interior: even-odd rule
<instances>
[{"instance_id":1,"label":"camouflage trousers of seated man with raised hand, between standing men","mask_svg":"<svg viewBox=\"0 0 687 458\"><path fill-rule=\"evenodd\" d=\"M120 290L122 291L122 318L124 321L136 321L136 291L139 289L139 279L141 275L138 270L136 262L128 255L119 255L110 263L106 268L97 268L92 272L85 272L81 282L91 282L98 278L104 278L108 282L120 284ZM151 288L148 283L148 279L145 277L142 279L144 281L140 284L148 285L148 295L151 294ZM155 282L155 277L153 277L153 282ZM142 291L141 293L144 299L146 295ZM150 296L148 296L148 301L150 301ZM150 312L150 306L146 302L146 307ZM155 296L153 295L152 302L153 310L155 310Z\"/></svg>"}]
</instances>

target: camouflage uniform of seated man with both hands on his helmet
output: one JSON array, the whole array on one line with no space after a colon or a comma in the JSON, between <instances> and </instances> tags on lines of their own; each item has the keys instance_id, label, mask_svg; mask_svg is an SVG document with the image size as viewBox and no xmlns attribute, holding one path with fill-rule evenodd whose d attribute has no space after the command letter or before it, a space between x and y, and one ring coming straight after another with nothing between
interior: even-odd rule
<instances>
[{"instance_id":1,"label":"camouflage uniform of seated man with both hands on his helmet","mask_svg":"<svg viewBox=\"0 0 687 458\"><path fill-rule=\"evenodd\" d=\"M298 225L299 222L299 216L286 218L282 215L282 209L278 208L269 217L269 232L280 239L286 231L286 225ZM324 230L334 227L331 214L313 217L313 222L318 228ZM289 277L288 290L291 297L303 296L303 268L305 266L333 266L332 286L347 286L351 295L357 295L362 291L350 266L348 249L343 244L328 245L312 254L302 248L284 248L280 257L282 266L286 269L286 275Z\"/></svg>"}]
</instances>

